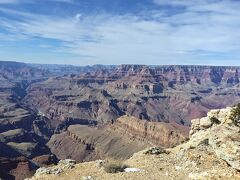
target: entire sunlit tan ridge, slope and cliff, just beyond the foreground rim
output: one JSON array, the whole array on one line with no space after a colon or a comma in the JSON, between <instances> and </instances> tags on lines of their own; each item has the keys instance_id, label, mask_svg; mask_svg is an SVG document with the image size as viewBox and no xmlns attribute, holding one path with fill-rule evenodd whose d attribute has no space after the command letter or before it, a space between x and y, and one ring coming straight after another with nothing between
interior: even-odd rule
<instances>
[{"instance_id":1,"label":"entire sunlit tan ridge, slope and cliff, just beyond the foreground rim","mask_svg":"<svg viewBox=\"0 0 240 180\"><path fill-rule=\"evenodd\" d=\"M178 126L123 116L104 128L71 125L66 132L52 136L48 146L59 159L77 162L127 159L149 146L172 147L186 141L185 127Z\"/></svg>"}]
</instances>

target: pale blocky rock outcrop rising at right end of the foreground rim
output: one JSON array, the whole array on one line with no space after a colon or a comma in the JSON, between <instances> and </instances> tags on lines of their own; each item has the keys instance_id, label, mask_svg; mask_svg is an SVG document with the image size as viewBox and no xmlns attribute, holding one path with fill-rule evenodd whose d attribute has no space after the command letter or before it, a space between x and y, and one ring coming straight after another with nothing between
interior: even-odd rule
<instances>
[{"instance_id":1,"label":"pale blocky rock outcrop rising at right end of the foreground rim","mask_svg":"<svg viewBox=\"0 0 240 180\"><path fill-rule=\"evenodd\" d=\"M220 159L240 171L240 127L231 120L231 109L212 110L207 117L192 120L187 145L207 143Z\"/></svg>"}]
</instances>

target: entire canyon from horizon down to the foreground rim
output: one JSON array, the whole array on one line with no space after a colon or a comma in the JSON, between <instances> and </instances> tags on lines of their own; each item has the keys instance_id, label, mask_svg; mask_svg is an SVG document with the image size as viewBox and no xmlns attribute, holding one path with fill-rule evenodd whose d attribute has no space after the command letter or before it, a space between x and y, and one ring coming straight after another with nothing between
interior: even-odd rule
<instances>
[{"instance_id":1,"label":"entire canyon from horizon down to the foreground rim","mask_svg":"<svg viewBox=\"0 0 240 180\"><path fill-rule=\"evenodd\" d=\"M0 62L0 177L30 177L60 159L128 159L186 142L192 119L239 103L239 71Z\"/></svg>"}]
</instances>

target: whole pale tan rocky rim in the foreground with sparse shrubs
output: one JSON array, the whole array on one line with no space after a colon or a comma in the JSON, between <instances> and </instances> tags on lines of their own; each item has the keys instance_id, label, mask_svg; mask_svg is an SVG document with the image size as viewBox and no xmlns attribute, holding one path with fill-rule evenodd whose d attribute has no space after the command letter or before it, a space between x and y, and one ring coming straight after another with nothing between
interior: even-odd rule
<instances>
[{"instance_id":1,"label":"whole pale tan rocky rim in the foreground with sparse shrubs","mask_svg":"<svg viewBox=\"0 0 240 180\"><path fill-rule=\"evenodd\" d=\"M240 179L240 127L230 115L231 108L212 110L192 121L188 142L135 153L124 162L135 172L106 173L101 164L107 161L93 161L57 175L36 173L31 179Z\"/></svg>"}]
</instances>

